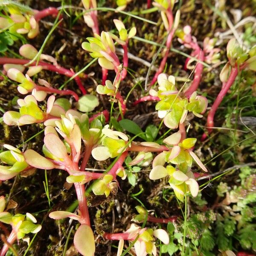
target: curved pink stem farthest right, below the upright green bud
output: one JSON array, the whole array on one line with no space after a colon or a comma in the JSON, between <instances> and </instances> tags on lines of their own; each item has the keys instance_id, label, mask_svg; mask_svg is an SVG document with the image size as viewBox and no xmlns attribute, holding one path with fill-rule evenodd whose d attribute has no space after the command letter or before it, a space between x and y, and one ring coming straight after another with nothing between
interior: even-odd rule
<instances>
[{"instance_id":1,"label":"curved pink stem farthest right, below the upright green bud","mask_svg":"<svg viewBox=\"0 0 256 256\"><path fill-rule=\"evenodd\" d=\"M237 67L232 67L227 83L221 88L221 91L219 92L217 98L215 99L215 102L212 105L212 108L210 109L210 111L208 113L208 116L207 116L208 133L212 132L211 127L214 126L213 119L215 116L215 112L217 111L218 106L221 104L224 96L227 94L227 91L230 89L231 85L235 81L237 74L238 74Z\"/></svg>"}]
</instances>

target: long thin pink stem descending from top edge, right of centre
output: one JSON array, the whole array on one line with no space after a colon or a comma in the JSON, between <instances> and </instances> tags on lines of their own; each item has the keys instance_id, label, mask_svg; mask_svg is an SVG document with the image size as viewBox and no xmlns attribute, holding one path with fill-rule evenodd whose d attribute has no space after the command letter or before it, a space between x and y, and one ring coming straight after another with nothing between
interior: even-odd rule
<instances>
[{"instance_id":1,"label":"long thin pink stem descending from top edge, right of centre","mask_svg":"<svg viewBox=\"0 0 256 256\"><path fill-rule=\"evenodd\" d=\"M160 63L160 66L157 70L157 73L155 73L154 78L150 83L151 86L157 81L157 76L160 73L162 73L163 70L164 70L166 60L167 60L167 57L168 57L168 54L169 54L169 51L170 51L170 47L171 47L171 44L172 44L172 37L173 37L173 34L175 32L174 29L171 29L172 28L172 23L173 23L173 16L172 16L172 10L171 9L167 10L166 16L167 16L168 21L169 21L169 31L168 31L169 35L168 35L168 38L167 38L167 41L166 41L166 49L164 49L164 51L166 51L166 52L165 52L164 57L163 57L163 59Z\"/></svg>"}]
</instances>

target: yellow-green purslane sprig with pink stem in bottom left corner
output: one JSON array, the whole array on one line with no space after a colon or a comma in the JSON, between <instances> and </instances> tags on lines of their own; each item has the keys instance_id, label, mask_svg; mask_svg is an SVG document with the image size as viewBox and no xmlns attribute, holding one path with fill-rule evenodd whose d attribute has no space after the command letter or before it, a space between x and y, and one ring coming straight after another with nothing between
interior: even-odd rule
<instances>
[{"instance_id":1,"label":"yellow-green purslane sprig with pink stem in bottom left corner","mask_svg":"<svg viewBox=\"0 0 256 256\"><path fill-rule=\"evenodd\" d=\"M20 213L12 215L10 212L4 211L5 208L5 198L1 196L0 222L11 225L12 232L8 236L7 243L4 244L0 250L0 256L5 256L9 247L12 247L12 244L14 244L16 240L23 239L26 234L29 233L38 233L42 228L40 224L36 224L37 220L31 213L27 212L26 215ZM4 224L2 224L3 226L1 226L1 228L5 228Z\"/></svg>"}]
</instances>

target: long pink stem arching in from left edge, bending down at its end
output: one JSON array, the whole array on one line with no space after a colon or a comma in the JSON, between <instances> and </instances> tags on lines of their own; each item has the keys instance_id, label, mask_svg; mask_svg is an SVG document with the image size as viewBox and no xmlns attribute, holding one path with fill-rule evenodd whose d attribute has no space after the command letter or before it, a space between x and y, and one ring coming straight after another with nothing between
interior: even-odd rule
<instances>
[{"instance_id":1,"label":"long pink stem arching in from left edge, bending down at its end","mask_svg":"<svg viewBox=\"0 0 256 256\"><path fill-rule=\"evenodd\" d=\"M3 65L3 64L20 64L20 65L25 65L25 64L29 63L29 61L30 60L3 57L3 58L0 58L0 65ZM44 70L50 70L50 71L53 71L53 72L57 72L57 73L59 73L61 75L67 76L67 77L72 77L72 76L75 75L75 73L72 72L71 70L68 70L68 69L66 69L64 67L60 67L60 66L54 66L54 65L46 63L44 61L39 61L38 65L42 66L42 68ZM37 66L36 61L34 61L29 66ZM84 74L83 77L86 78L87 75ZM76 76L74 79L75 79L79 89L81 90L81 92L83 94L86 94L86 90L84 89L84 86L83 86L79 76Z\"/></svg>"}]
</instances>

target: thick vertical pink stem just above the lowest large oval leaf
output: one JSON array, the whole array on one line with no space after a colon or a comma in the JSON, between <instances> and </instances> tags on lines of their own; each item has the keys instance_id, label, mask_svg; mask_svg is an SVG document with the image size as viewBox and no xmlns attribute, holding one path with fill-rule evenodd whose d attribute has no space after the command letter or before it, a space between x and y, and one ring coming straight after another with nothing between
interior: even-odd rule
<instances>
[{"instance_id":1,"label":"thick vertical pink stem just above the lowest large oval leaf","mask_svg":"<svg viewBox=\"0 0 256 256\"><path fill-rule=\"evenodd\" d=\"M85 196L84 184L74 183L76 189L76 196L79 204L79 211L81 212L81 218L84 220L84 224L90 226L90 217L87 206L87 199Z\"/></svg>"}]
</instances>

